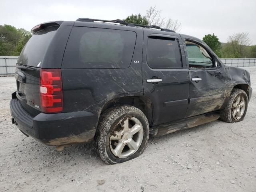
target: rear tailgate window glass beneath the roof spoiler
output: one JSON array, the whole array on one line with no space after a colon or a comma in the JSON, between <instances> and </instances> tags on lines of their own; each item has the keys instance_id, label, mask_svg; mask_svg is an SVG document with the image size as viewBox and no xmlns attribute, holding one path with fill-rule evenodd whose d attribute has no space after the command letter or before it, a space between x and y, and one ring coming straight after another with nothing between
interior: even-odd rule
<instances>
[{"instance_id":1,"label":"rear tailgate window glass beneath the roof spoiler","mask_svg":"<svg viewBox=\"0 0 256 192\"><path fill-rule=\"evenodd\" d=\"M18 64L40 67L39 63L59 26L52 26L36 32L24 46L18 58Z\"/></svg>"}]
</instances>

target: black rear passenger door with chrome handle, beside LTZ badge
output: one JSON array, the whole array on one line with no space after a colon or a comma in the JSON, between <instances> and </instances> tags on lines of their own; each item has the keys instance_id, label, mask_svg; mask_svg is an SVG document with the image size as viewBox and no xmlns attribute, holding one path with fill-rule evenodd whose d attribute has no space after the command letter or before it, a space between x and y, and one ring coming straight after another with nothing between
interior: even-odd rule
<instances>
[{"instance_id":1,"label":"black rear passenger door with chrome handle, beside LTZ badge","mask_svg":"<svg viewBox=\"0 0 256 192\"><path fill-rule=\"evenodd\" d=\"M143 88L153 102L153 125L184 118L189 75L180 35L144 29L143 45Z\"/></svg>"}]
</instances>

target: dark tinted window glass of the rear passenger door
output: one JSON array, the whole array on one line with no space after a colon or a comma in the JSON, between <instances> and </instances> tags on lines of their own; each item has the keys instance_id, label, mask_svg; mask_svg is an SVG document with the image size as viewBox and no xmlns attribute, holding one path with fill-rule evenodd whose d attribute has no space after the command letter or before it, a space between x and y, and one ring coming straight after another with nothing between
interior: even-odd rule
<instances>
[{"instance_id":1,"label":"dark tinted window glass of the rear passenger door","mask_svg":"<svg viewBox=\"0 0 256 192\"><path fill-rule=\"evenodd\" d=\"M174 38L149 38L147 63L151 68L182 67L178 41Z\"/></svg>"}]
</instances>

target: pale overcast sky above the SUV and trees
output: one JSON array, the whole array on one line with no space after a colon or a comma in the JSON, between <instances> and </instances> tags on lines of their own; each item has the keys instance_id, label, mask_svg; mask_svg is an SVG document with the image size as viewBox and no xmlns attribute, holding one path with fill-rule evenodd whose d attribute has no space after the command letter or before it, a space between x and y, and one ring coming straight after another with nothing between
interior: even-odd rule
<instances>
[{"instance_id":1,"label":"pale overcast sky above the SUV and trees","mask_svg":"<svg viewBox=\"0 0 256 192\"><path fill-rule=\"evenodd\" d=\"M256 0L1 0L0 5L0 25L26 30L52 20L124 19L156 6L162 16L181 22L180 33L200 39L214 33L226 42L232 33L249 32L256 44Z\"/></svg>"}]
</instances>

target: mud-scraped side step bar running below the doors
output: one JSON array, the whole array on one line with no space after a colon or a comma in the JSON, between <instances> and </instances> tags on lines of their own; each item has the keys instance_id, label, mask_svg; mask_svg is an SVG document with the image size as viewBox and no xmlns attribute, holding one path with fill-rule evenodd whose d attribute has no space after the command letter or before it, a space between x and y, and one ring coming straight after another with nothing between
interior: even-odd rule
<instances>
[{"instance_id":1,"label":"mud-scraped side step bar running below the doors","mask_svg":"<svg viewBox=\"0 0 256 192\"><path fill-rule=\"evenodd\" d=\"M172 121L164 123L158 126L150 128L150 134L152 136L162 136L169 133L176 132L178 130L192 128L198 125L212 122L220 118L220 112L210 112L194 117L189 117L182 120Z\"/></svg>"}]
</instances>

